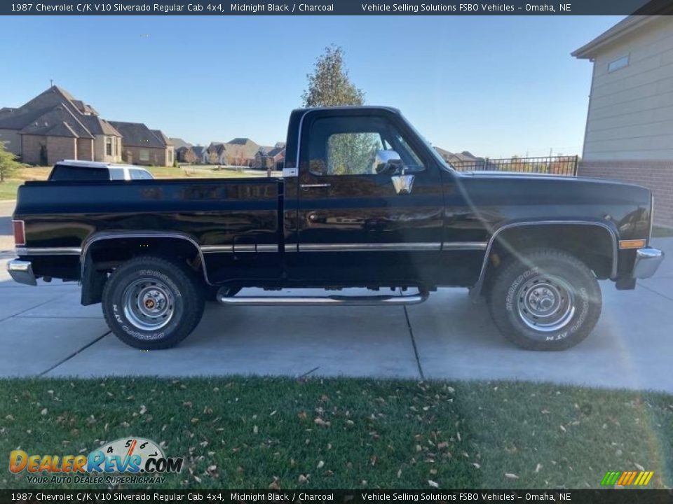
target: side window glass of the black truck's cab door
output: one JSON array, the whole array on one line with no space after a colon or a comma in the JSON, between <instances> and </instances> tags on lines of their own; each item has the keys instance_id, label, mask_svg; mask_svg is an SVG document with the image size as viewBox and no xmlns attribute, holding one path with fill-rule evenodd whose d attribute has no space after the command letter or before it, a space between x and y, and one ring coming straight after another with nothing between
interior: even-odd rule
<instances>
[{"instance_id":1,"label":"side window glass of the black truck's cab door","mask_svg":"<svg viewBox=\"0 0 673 504\"><path fill-rule=\"evenodd\" d=\"M318 118L311 123L308 139L308 169L314 175L375 175L386 154L399 156L405 172L425 169L404 136L380 117Z\"/></svg>"}]
</instances>

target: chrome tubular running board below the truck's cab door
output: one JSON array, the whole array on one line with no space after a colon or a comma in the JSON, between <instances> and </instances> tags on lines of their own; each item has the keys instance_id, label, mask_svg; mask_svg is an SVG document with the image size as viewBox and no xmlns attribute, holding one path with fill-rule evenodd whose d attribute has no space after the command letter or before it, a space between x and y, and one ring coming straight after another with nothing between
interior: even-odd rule
<instances>
[{"instance_id":1,"label":"chrome tubular running board below the truck's cab door","mask_svg":"<svg viewBox=\"0 0 673 504\"><path fill-rule=\"evenodd\" d=\"M240 304L255 306L325 306L340 304L341 306L393 306L419 304L428 299L427 292L410 295L373 295L373 296L233 296L217 294L217 301L222 304Z\"/></svg>"}]
</instances>

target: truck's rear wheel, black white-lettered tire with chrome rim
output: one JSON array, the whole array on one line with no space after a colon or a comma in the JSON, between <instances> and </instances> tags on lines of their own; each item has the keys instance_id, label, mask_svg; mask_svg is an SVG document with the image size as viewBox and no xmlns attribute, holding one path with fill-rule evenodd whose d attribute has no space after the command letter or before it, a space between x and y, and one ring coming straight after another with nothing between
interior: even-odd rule
<instances>
[{"instance_id":1,"label":"truck's rear wheel, black white-lettered tire with chrome rim","mask_svg":"<svg viewBox=\"0 0 673 504\"><path fill-rule=\"evenodd\" d=\"M198 279L177 260L154 256L128 260L114 270L103 289L108 327L124 343L143 350L177 345L196 328L203 307Z\"/></svg>"}]
</instances>

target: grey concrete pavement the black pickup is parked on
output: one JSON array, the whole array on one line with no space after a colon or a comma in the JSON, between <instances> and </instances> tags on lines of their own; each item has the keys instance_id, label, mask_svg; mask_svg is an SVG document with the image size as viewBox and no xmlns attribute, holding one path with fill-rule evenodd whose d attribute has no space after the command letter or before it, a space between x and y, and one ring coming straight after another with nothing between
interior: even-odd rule
<instances>
[{"instance_id":1,"label":"grey concrete pavement the black pickup is parked on","mask_svg":"<svg viewBox=\"0 0 673 504\"><path fill-rule=\"evenodd\" d=\"M143 352L111 335L100 306L79 288L10 281L0 260L0 375L277 374L523 379L673 392L673 239L668 259L636 290L601 282L604 309L593 334L569 351L518 349L483 303L442 289L412 307L220 307L209 304L175 349Z\"/></svg>"}]
</instances>

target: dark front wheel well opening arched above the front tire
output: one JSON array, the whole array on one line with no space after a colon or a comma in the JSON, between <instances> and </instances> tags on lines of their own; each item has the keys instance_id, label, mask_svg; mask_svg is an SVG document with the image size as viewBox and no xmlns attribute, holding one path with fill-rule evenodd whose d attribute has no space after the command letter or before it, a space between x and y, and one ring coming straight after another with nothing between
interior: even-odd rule
<instances>
[{"instance_id":1,"label":"dark front wheel well opening arched above the front tire","mask_svg":"<svg viewBox=\"0 0 673 504\"><path fill-rule=\"evenodd\" d=\"M614 241L599 225L522 225L498 233L487 261L484 290L488 291L498 268L530 248L555 248L570 253L587 265L597 279L610 278Z\"/></svg>"}]
</instances>

